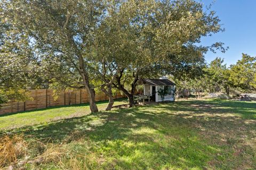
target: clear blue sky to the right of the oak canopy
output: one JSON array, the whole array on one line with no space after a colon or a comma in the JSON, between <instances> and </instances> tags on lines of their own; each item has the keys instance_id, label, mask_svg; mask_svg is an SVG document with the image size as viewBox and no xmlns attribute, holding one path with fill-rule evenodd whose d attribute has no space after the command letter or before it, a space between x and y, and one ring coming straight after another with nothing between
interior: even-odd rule
<instances>
[{"instance_id":1,"label":"clear blue sky to the right of the oak canopy","mask_svg":"<svg viewBox=\"0 0 256 170\"><path fill-rule=\"evenodd\" d=\"M209 5L212 0L202 0ZM224 58L229 66L242 58L242 53L256 56L256 0L215 0L212 10L217 12L225 32L202 39L203 45L217 41L229 47L226 53L208 52L205 60L209 63L216 57Z\"/></svg>"}]
</instances>

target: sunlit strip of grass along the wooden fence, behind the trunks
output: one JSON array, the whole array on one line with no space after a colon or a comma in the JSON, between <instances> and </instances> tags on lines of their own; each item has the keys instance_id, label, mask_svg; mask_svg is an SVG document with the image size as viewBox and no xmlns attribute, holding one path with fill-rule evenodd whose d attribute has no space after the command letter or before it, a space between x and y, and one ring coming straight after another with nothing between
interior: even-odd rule
<instances>
[{"instance_id":1,"label":"sunlit strip of grass along the wooden fence, behind the trunks","mask_svg":"<svg viewBox=\"0 0 256 170\"><path fill-rule=\"evenodd\" d=\"M126 104L124 98L116 99L114 106ZM99 110L103 111L108 105L108 101L97 102ZM57 106L36 111L26 111L15 114L0 115L0 129L19 128L21 126L47 123L61 120L63 118L84 116L90 113L89 104Z\"/></svg>"}]
</instances>

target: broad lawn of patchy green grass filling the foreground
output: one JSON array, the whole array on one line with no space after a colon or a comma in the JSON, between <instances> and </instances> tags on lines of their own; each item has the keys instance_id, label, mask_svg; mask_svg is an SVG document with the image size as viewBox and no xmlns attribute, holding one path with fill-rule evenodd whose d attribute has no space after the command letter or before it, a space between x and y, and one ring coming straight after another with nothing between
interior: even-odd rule
<instances>
[{"instance_id":1,"label":"broad lawn of patchy green grass filling the foreground","mask_svg":"<svg viewBox=\"0 0 256 170\"><path fill-rule=\"evenodd\" d=\"M69 116L85 107L9 116L20 122L26 115L29 122L40 112ZM0 124L6 128L4 118ZM256 169L253 102L188 100L116 109L14 129L7 135L24 140L13 143L25 148L15 161L27 157L26 169Z\"/></svg>"}]
</instances>

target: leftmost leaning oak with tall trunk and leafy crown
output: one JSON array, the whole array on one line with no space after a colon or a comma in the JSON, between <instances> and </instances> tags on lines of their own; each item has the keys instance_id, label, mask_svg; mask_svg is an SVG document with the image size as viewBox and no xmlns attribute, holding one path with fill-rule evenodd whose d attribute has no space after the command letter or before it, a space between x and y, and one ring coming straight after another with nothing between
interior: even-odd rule
<instances>
[{"instance_id":1,"label":"leftmost leaning oak with tall trunk and leafy crown","mask_svg":"<svg viewBox=\"0 0 256 170\"><path fill-rule=\"evenodd\" d=\"M94 31L103 14L101 1L2 1L7 23L30 37L35 55L52 81L85 88L90 109L98 112L89 65Z\"/></svg>"}]
</instances>

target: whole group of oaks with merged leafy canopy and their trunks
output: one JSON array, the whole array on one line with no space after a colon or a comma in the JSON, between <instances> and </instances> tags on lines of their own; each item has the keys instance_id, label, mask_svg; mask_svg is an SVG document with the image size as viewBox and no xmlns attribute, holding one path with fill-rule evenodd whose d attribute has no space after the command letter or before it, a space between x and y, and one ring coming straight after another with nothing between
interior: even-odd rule
<instances>
[{"instance_id":1,"label":"whole group of oaks with merged leafy canopy and their trunks","mask_svg":"<svg viewBox=\"0 0 256 170\"><path fill-rule=\"evenodd\" d=\"M204 63L207 50L225 51L219 42L198 45L223 29L214 11L193 0L3 0L0 6L1 22L26 41L15 45L33 57L31 67L51 87L86 89L92 112L97 88L109 97L107 109L112 88L133 106L140 79L188 73Z\"/></svg>"}]
</instances>

